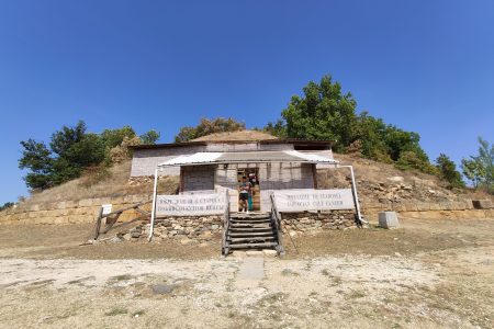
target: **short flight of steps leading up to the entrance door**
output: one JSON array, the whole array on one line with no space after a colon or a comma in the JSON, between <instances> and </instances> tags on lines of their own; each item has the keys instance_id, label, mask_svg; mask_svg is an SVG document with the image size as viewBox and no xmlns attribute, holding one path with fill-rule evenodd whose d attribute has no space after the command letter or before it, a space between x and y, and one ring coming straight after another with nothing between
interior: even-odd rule
<instances>
[{"instance_id":1,"label":"short flight of steps leading up to the entrance door","mask_svg":"<svg viewBox=\"0 0 494 329\"><path fill-rule=\"evenodd\" d=\"M276 249L279 241L269 213L235 213L226 231L226 254L238 249Z\"/></svg>"}]
</instances>

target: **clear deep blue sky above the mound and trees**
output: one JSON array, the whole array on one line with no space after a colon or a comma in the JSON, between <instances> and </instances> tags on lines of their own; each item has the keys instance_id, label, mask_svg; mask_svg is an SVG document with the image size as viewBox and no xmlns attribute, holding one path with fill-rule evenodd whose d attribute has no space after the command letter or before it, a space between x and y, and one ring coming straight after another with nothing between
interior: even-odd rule
<instances>
[{"instance_id":1,"label":"clear deep blue sky above the mound and trees","mask_svg":"<svg viewBox=\"0 0 494 329\"><path fill-rule=\"evenodd\" d=\"M459 161L494 141L494 2L0 0L0 203L27 193L20 140L262 126L325 73Z\"/></svg>"}]
</instances>

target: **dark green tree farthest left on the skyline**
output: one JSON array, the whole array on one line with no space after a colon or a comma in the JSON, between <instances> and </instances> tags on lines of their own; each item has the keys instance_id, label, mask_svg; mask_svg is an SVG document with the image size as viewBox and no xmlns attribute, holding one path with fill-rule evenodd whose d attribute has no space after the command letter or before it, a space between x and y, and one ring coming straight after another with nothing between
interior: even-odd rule
<instances>
[{"instance_id":1,"label":"dark green tree farthest left on the skyline","mask_svg":"<svg viewBox=\"0 0 494 329\"><path fill-rule=\"evenodd\" d=\"M37 143L30 138L21 141L24 148L19 159L19 168L30 172L24 177L26 185L31 189L46 189L53 184L53 158L52 151L44 143Z\"/></svg>"}]
</instances>

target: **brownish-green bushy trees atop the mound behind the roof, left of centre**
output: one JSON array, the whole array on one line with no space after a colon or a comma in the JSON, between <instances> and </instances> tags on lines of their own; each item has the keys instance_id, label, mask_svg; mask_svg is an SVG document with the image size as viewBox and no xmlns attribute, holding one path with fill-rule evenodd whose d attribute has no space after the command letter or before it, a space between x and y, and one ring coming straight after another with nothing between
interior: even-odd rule
<instances>
[{"instance_id":1,"label":"brownish-green bushy trees atop the mound behind the roof, left of centre","mask_svg":"<svg viewBox=\"0 0 494 329\"><path fill-rule=\"evenodd\" d=\"M245 123L237 122L232 117L201 118L201 122L195 127L181 127L180 132L175 136L175 141L183 143L214 133L238 132L243 129L245 129Z\"/></svg>"}]
</instances>

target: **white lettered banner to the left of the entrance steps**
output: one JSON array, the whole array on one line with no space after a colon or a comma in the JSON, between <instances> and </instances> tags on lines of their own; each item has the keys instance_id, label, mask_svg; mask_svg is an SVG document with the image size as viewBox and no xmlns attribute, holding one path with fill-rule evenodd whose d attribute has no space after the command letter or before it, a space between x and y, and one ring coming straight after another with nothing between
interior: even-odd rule
<instances>
[{"instance_id":1,"label":"white lettered banner to the left of the entrance steps","mask_svg":"<svg viewBox=\"0 0 494 329\"><path fill-rule=\"evenodd\" d=\"M220 215L225 206L225 195L216 193L156 196L156 216Z\"/></svg>"}]
</instances>

